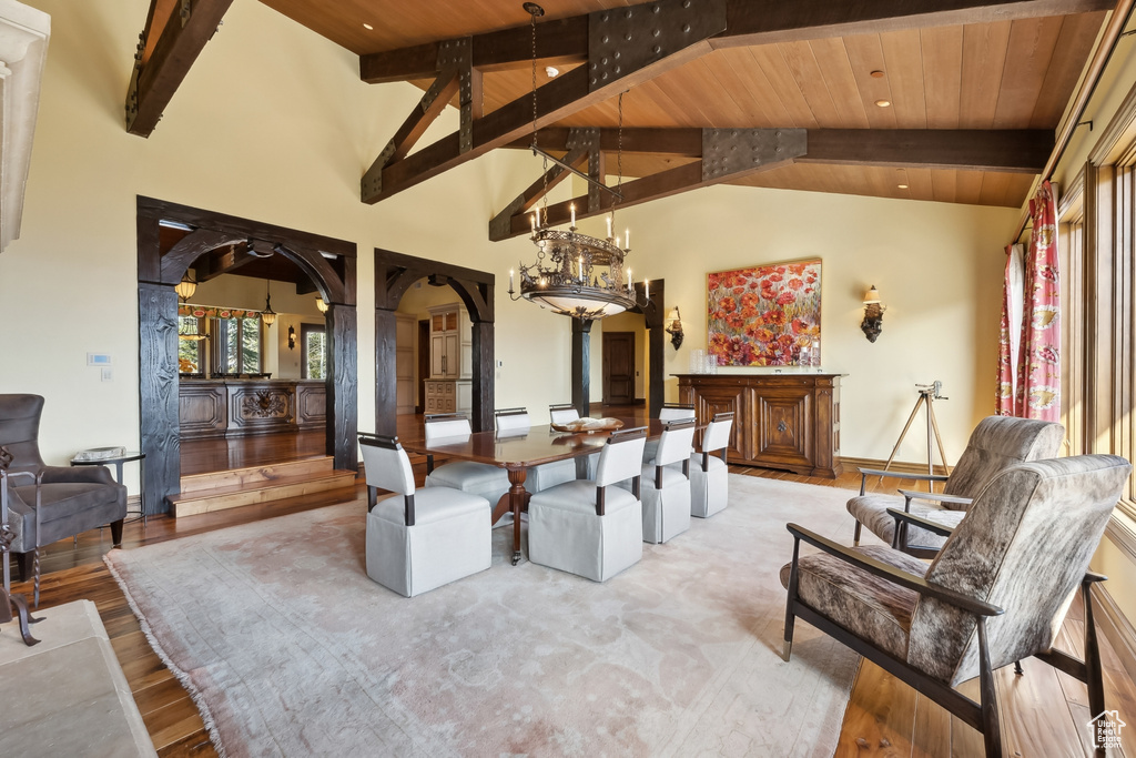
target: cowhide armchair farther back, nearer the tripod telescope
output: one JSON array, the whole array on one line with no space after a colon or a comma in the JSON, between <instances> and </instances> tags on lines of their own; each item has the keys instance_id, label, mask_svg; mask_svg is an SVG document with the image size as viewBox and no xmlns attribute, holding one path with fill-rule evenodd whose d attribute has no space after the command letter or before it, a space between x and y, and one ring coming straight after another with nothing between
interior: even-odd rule
<instances>
[{"instance_id":1,"label":"cowhide armchair farther back, nearer the tripod telescope","mask_svg":"<svg viewBox=\"0 0 1136 758\"><path fill-rule=\"evenodd\" d=\"M860 469L860 495L849 500L847 509L855 517L853 543L860 544L860 528L867 526L893 548L913 556L930 558L943 547L944 539L918 526L909 526L896 541L895 519L889 508L913 513L944 526L957 526L967 507L986 483L1013 464L1041 460L1058 455L1064 427L1052 422L1009 416L989 416L975 427L967 449L951 475L900 474L872 468ZM893 476L904 480L944 482L943 492L900 490L899 495L866 493L870 476Z\"/></svg>"}]
</instances>

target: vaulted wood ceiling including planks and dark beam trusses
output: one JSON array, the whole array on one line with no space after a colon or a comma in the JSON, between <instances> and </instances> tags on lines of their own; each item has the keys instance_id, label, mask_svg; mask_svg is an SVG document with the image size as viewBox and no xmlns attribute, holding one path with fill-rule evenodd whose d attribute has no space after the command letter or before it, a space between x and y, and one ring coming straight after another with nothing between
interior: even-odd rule
<instances>
[{"instance_id":1,"label":"vaulted wood ceiling including planks and dark beam trusses","mask_svg":"<svg viewBox=\"0 0 1136 758\"><path fill-rule=\"evenodd\" d=\"M533 31L520 0L261 1L359 55L364 81L424 90L420 107L376 153L361 183L365 202L533 141ZM203 15L198 52L231 2L193 3ZM181 2L153 5L151 19ZM615 174L625 93L623 174L651 178L625 185L624 203L726 182L1019 207L1116 0L542 5L538 144L593 177ZM143 47L167 60L157 36ZM559 68L556 78L549 65ZM461 128L416 144L446 103L461 111ZM553 182L563 176L550 173ZM540 183L517 188L492 236L524 232ZM580 215L611 201L591 194L577 200ZM549 213L553 223L567 220L566 207Z\"/></svg>"}]
</instances>

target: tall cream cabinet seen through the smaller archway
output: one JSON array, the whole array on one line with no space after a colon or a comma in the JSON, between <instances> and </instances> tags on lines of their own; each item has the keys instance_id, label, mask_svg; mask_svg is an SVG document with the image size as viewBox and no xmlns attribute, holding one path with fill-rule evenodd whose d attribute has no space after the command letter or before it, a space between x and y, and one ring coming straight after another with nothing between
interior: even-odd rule
<instances>
[{"instance_id":1,"label":"tall cream cabinet seen through the smaller archway","mask_svg":"<svg viewBox=\"0 0 1136 758\"><path fill-rule=\"evenodd\" d=\"M473 330L458 303L429 309L429 367L426 413L468 413L473 408Z\"/></svg>"}]
</instances>

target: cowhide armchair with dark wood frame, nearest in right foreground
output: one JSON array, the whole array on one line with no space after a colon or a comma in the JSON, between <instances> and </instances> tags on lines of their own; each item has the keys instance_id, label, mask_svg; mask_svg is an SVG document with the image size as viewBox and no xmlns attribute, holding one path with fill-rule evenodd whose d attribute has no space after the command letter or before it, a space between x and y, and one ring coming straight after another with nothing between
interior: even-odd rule
<instances>
[{"instance_id":1,"label":"cowhide armchair with dark wood frame, nearest in right foreground","mask_svg":"<svg viewBox=\"0 0 1136 758\"><path fill-rule=\"evenodd\" d=\"M980 731L1001 756L994 669L1034 656L1088 685L1104 710L1088 561L1131 470L1124 458L1080 456L1008 467L927 564L892 548L844 548L788 525L793 561L785 658L796 618L840 640ZM821 550L800 556L801 542ZM1078 585L1085 660L1053 648ZM980 702L954 686L979 677Z\"/></svg>"}]
</instances>

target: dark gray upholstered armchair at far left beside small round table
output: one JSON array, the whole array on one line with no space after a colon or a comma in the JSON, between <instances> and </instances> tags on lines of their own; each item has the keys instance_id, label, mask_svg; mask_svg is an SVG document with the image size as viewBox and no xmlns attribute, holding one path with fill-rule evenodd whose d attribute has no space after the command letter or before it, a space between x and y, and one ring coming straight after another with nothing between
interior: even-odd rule
<instances>
[{"instance_id":1,"label":"dark gray upholstered armchair at far left beside small round table","mask_svg":"<svg viewBox=\"0 0 1136 758\"><path fill-rule=\"evenodd\" d=\"M0 394L0 526L10 532L9 550L16 553L20 580L32 569L35 605L40 602L39 549L57 540L110 525L117 545L123 541L126 488L115 483L102 466L48 466L40 457L37 394ZM10 590L8 561L3 561L5 590Z\"/></svg>"}]
</instances>

